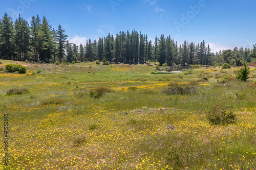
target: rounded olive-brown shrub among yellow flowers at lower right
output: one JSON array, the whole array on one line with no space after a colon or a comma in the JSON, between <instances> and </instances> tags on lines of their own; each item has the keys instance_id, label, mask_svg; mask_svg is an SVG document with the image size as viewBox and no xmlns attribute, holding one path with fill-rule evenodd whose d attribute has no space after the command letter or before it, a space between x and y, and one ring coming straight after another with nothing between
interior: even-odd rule
<instances>
[{"instance_id":1,"label":"rounded olive-brown shrub among yellow flowers at lower right","mask_svg":"<svg viewBox=\"0 0 256 170\"><path fill-rule=\"evenodd\" d=\"M236 114L227 110L228 107L223 107L222 105L211 106L206 111L206 117L210 123L218 125L226 125L236 122Z\"/></svg>"}]
</instances>

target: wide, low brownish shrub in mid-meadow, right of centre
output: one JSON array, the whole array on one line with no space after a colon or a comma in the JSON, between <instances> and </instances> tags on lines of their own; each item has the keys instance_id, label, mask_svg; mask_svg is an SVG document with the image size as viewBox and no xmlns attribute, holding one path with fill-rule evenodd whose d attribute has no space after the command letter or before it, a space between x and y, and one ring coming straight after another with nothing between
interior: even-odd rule
<instances>
[{"instance_id":1,"label":"wide, low brownish shrub in mid-meadow, right of centre","mask_svg":"<svg viewBox=\"0 0 256 170\"><path fill-rule=\"evenodd\" d=\"M172 95L172 94L186 95L186 94L192 94L195 92L196 92L196 88L190 84L173 84L169 88L166 88L163 90L163 93L167 95Z\"/></svg>"}]
</instances>

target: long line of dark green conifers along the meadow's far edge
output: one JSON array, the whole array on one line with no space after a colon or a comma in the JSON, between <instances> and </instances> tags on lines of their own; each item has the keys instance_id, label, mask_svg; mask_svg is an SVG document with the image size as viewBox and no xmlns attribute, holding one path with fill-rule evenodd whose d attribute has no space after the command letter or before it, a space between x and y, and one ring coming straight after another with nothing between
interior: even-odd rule
<instances>
[{"instance_id":1,"label":"long line of dark green conifers along the meadow's far edge","mask_svg":"<svg viewBox=\"0 0 256 170\"><path fill-rule=\"evenodd\" d=\"M254 47L256 48L256 47ZM146 63L149 60L158 61L160 65L175 64L201 64L215 65L229 63L241 66L242 63L251 62L255 58L249 48L237 48L211 53L209 44L204 41L196 44L187 42L178 45L168 35L163 34L154 42L146 34L136 30L120 31L115 36L110 33L99 40L87 40L86 45L67 41L65 30L52 28L44 16L42 20L32 17L30 23L19 17L13 22L5 13L0 19L0 59L34 62L72 62L72 61L109 61L121 63Z\"/></svg>"}]
</instances>

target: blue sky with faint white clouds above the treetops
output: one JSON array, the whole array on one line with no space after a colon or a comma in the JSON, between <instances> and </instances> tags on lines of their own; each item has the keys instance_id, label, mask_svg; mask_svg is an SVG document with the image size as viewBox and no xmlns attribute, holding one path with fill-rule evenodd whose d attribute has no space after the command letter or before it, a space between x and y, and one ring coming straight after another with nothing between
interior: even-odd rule
<instances>
[{"instance_id":1,"label":"blue sky with faint white clouds above the treetops","mask_svg":"<svg viewBox=\"0 0 256 170\"><path fill-rule=\"evenodd\" d=\"M231 0L0 0L1 17L20 13L30 20L46 16L53 28L62 26L68 39L87 39L136 30L153 40L170 35L178 43L205 41L212 52L250 47L256 43L256 1Z\"/></svg>"}]
</instances>

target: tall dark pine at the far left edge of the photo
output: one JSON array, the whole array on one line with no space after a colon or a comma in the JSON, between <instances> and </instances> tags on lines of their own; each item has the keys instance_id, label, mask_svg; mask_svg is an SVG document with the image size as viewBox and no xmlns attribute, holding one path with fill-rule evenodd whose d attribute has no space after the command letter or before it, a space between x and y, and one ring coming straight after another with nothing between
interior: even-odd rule
<instances>
[{"instance_id":1,"label":"tall dark pine at the far left edge of the photo","mask_svg":"<svg viewBox=\"0 0 256 170\"><path fill-rule=\"evenodd\" d=\"M5 60L14 60L15 59L15 32L13 21L11 17L8 17L7 13L5 13L2 20L2 33L1 39L3 42L0 46L1 58Z\"/></svg>"}]
</instances>

